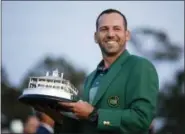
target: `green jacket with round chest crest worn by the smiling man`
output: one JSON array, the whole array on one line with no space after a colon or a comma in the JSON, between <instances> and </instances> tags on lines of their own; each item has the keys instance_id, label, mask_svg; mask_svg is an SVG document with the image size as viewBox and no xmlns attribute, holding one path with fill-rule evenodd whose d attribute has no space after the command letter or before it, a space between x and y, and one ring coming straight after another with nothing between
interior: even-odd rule
<instances>
[{"instance_id":1,"label":"green jacket with round chest crest worn by the smiling man","mask_svg":"<svg viewBox=\"0 0 185 134\"><path fill-rule=\"evenodd\" d=\"M83 100L96 74L86 79ZM98 125L88 121L64 119L63 131L84 134L145 134L154 118L159 89L155 67L148 60L126 50L111 65L93 101L98 108Z\"/></svg>"}]
</instances>

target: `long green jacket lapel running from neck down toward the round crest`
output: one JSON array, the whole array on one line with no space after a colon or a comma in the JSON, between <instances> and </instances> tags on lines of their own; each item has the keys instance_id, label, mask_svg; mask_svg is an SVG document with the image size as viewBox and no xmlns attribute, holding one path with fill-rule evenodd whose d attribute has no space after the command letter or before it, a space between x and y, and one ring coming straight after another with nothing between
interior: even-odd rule
<instances>
[{"instance_id":1,"label":"long green jacket lapel running from neck down toward the round crest","mask_svg":"<svg viewBox=\"0 0 185 134\"><path fill-rule=\"evenodd\" d=\"M123 54L121 54L120 57L111 65L110 70L108 71L107 75L104 77L100 84L100 87L96 93L92 105L95 106L97 102L101 99L101 97L104 95L107 88L110 86L110 84L113 82L113 80L121 70L122 64L125 63L125 61L128 59L129 55L130 54L128 53L128 51L125 50Z\"/></svg>"}]
</instances>

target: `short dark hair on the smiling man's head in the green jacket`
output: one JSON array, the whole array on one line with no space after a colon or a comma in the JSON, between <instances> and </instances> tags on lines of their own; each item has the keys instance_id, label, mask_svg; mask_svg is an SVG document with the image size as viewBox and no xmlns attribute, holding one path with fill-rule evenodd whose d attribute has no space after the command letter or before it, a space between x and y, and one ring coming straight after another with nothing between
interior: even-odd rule
<instances>
[{"instance_id":1,"label":"short dark hair on the smiling man's head in the green jacket","mask_svg":"<svg viewBox=\"0 0 185 134\"><path fill-rule=\"evenodd\" d=\"M127 19L126 19L125 15L122 14L120 11L118 11L118 10L116 10L116 9L106 9L106 10L102 11L102 12L99 14L98 18L96 19L96 30L98 30L98 24L99 24L98 21L99 21L100 17L101 17L103 14L111 14L111 13L118 13L118 14L120 14L120 15L123 17L124 26L125 26L125 29L127 30Z\"/></svg>"}]
</instances>

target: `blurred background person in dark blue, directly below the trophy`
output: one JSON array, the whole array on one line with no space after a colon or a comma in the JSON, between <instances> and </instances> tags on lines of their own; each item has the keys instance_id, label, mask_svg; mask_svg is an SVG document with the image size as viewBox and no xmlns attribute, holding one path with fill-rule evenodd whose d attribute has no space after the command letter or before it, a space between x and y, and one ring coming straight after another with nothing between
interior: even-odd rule
<instances>
[{"instance_id":1,"label":"blurred background person in dark blue, directly below the trophy","mask_svg":"<svg viewBox=\"0 0 185 134\"><path fill-rule=\"evenodd\" d=\"M36 116L40 120L36 134L53 134L54 120L43 112L36 112Z\"/></svg>"}]
</instances>

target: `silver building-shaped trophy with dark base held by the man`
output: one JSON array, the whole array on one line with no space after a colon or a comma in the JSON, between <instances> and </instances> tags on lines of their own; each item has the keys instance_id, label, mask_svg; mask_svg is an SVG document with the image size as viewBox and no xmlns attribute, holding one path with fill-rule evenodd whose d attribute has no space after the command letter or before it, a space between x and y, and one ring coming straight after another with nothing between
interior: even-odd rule
<instances>
[{"instance_id":1,"label":"silver building-shaped trophy with dark base held by the man","mask_svg":"<svg viewBox=\"0 0 185 134\"><path fill-rule=\"evenodd\" d=\"M19 101L32 106L35 110L45 112L55 120L60 114L76 118L69 109L58 102L78 101L78 90L69 80L63 78L63 73L54 70L46 72L46 76L30 77L28 88L24 89Z\"/></svg>"}]
</instances>

